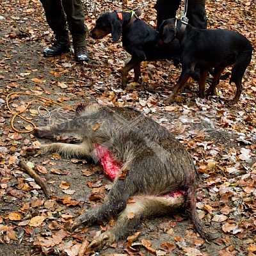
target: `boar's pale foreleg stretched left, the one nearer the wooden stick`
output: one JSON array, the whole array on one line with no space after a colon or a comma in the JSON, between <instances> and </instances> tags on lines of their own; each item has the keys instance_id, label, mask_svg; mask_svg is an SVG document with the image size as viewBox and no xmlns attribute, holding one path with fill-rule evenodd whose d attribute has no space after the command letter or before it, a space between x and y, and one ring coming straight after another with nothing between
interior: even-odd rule
<instances>
[{"instance_id":1,"label":"boar's pale foreleg stretched left, the one nearer the wooden stick","mask_svg":"<svg viewBox=\"0 0 256 256\"><path fill-rule=\"evenodd\" d=\"M51 143L26 149L28 156L39 156L47 153L60 153L64 157L89 157L90 143L83 141L81 144Z\"/></svg>"}]
</instances>

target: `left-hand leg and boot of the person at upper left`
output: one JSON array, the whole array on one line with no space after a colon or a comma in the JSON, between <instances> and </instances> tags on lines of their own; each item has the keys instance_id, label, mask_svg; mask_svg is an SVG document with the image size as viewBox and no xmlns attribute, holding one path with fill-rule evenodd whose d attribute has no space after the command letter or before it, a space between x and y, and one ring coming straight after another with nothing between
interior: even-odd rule
<instances>
[{"instance_id":1,"label":"left-hand leg and boot of the person at upper left","mask_svg":"<svg viewBox=\"0 0 256 256\"><path fill-rule=\"evenodd\" d=\"M44 50L44 56L53 57L64 52L70 52L67 19L63 11L61 0L40 1L44 7L47 23L56 36L56 42Z\"/></svg>"}]
</instances>

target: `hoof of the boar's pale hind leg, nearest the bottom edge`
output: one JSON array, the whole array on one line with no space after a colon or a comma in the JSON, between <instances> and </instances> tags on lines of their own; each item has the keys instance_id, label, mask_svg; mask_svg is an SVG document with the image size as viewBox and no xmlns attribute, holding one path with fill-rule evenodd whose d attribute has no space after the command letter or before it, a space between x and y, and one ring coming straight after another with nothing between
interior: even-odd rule
<instances>
[{"instance_id":1,"label":"hoof of the boar's pale hind leg, nearest the bottom edge","mask_svg":"<svg viewBox=\"0 0 256 256\"><path fill-rule=\"evenodd\" d=\"M96 237L92 243L88 245L88 250L93 250L95 252L99 252L104 247L109 247L113 244L116 240L115 235L110 232L104 232L100 234L100 236Z\"/></svg>"}]
</instances>

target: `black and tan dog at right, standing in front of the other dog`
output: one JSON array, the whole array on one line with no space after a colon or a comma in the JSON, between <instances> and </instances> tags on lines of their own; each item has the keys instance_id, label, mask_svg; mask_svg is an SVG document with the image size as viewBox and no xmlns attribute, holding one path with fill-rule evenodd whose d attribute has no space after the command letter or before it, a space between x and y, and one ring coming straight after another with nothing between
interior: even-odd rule
<instances>
[{"instance_id":1,"label":"black and tan dog at right, standing in front of the other dog","mask_svg":"<svg viewBox=\"0 0 256 256\"><path fill-rule=\"evenodd\" d=\"M252 58L249 40L227 29L197 29L183 20L164 20L159 28L159 44L170 44L176 38L180 41L182 73L166 103L175 99L175 95L193 74L195 66L200 68L199 96L204 97L205 81L210 68L214 68L214 74L206 95L216 95L221 72L230 65L233 65L230 84L234 81L237 88L233 101L237 103L243 90L243 75Z\"/></svg>"}]
</instances>

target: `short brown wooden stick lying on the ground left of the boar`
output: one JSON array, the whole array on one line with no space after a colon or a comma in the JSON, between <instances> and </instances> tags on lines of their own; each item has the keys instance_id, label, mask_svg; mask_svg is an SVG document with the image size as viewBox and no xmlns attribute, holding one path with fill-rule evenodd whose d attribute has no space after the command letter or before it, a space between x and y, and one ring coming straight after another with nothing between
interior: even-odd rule
<instances>
[{"instance_id":1,"label":"short brown wooden stick lying on the ground left of the boar","mask_svg":"<svg viewBox=\"0 0 256 256\"><path fill-rule=\"evenodd\" d=\"M40 177L40 175L38 175L34 170L32 170L31 168L29 168L29 166L27 164L25 164L22 160L20 160L19 158L17 158L16 160L16 164L22 169L24 170L24 172L28 173L28 175L33 178L35 180L35 182L43 189L45 195L47 196L47 198L51 198L52 196L52 191L51 189L47 186L47 184L45 183L45 181Z\"/></svg>"}]
</instances>

